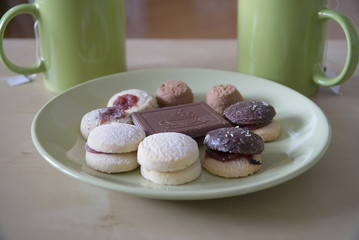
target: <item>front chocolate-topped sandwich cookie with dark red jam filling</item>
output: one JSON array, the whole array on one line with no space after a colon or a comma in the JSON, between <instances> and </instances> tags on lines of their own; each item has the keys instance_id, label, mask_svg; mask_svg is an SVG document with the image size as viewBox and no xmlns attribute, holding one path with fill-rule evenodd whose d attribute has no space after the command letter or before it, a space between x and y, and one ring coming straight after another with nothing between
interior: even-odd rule
<instances>
[{"instance_id":1,"label":"front chocolate-topped sandwich cookie with dark red jam filling","mask_svg":"<svg viewBox=\"0 0 359 240\"><path fill-rule=\"evenodd\" d=\"M203 167L224 177L246 177L262 167L260 154L264 141L257 134L241 128L221 128L210 131L204 140L206 151Z\"/></svg>"}]
</instances>

